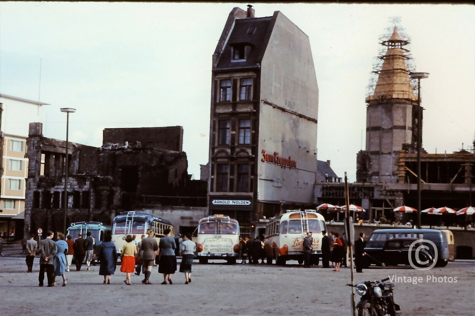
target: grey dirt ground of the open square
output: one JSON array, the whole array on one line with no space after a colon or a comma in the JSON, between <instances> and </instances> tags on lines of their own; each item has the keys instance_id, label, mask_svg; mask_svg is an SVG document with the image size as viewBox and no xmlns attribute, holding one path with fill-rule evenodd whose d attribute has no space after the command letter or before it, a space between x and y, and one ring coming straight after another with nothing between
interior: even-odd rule
<instances>
[{"instance_id":1,"label":"grey dirt ground of the open square","mask_svg":"<svg viewBox=\"0 0 475 316\"><path fill-rule=\"evenodd\" d=\"M155 268L150 286L135 275L133 284L126 286L119 268L113 284L104 285L99 266L93 266L90 271L67 272L65 288L39 288L38 258L33 273L26 273L24 259L0 258L0 315L351 315L351 289L345 286L351 280L350 269L333 272L289 263L196 263L188 285L179 272L172 277L173 285L161 285ZM395 301L404 316L475 315L474 261L428 271L372 268L355 273L355 282L394 275L423 277L418 284L395 282ZM457 282L433 283L432 276L456 277Z\"/></svg>"}]
</instances>

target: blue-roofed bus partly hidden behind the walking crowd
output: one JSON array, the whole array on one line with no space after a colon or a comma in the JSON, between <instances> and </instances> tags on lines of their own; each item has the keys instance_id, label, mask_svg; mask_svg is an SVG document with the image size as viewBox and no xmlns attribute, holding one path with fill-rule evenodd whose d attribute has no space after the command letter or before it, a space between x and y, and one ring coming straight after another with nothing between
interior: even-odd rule
<instances>
[{"instance_id":1,"label":"blue-roofed bus partly hidden behind the walking crowd","mask_svg":"<svg viewBox=\"0 0 475 316\"><path fill-rule=\"evenodd\" d=\"M147 236L147 230L150 229L155 233L155 239L158 244L160 238L164 236L163 231L167 228L171 230L170 236L174 236L173 225L167 220L145 212L122 212L115 216L112 223L112 242L115 244L117 253L120 254L123 246L126 244L125 237L127 235L135 235L135 241L140 242L142 235Z\"/></svg>"}]
</instances>

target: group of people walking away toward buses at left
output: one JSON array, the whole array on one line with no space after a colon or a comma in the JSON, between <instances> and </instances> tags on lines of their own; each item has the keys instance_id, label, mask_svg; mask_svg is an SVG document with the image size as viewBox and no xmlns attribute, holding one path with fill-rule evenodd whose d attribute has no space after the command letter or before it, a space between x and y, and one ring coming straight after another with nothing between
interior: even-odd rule
<instances>
[{"instance_id":1,"label":"group of people walking away toward buses at left","mask_svg":"<svg viewBox=\"0 0 475 316\"><path fill-rule=\"evenodd\" d=\"M85 261L86 270L90 270L91 262L94 259L99 261L99 275L104 277L103 284L111 284L111 276L114 274L117 265L117 259L120 256L120 271L125 273L124 283L131 285L131 274L135 271L136 275L140 275L143 270L143 284L152 284L150 276L152 268L158 263L158 272L163 275L161 284L173 284L171 280L172 274L177 270L177 259L175 249L179 247L178 254L181 255L180 272L184 273L185 284L191 282L191 266L193 264L194 253L196 252L196 244L191 240L191 235L186 234L178 243L170 236L170 229L164 230L165 236L161 237L157 243L155 235L152 231L147 232L147 236L142 235L141 242L135 242L135 235L127 235L125 237L126 244L118 254L112 235L110 232L104 234L104 240L101 244L96 245L95 240L91 237L91 233L87 232L86 238L82 234L78 234L76 240L73 241L71 235L65 238L61 232L57 233L57 240L54 241L54 233L46 232L46 238L38 242L35 235L31 234L30 239L26 242L26 264L27 272L33 270L35 256L39 254L39 286L44 286L45 273L47 276L47 287L56 286L56 278L61 277L62 286L65 287L66 272L70 271L73 257L75 258L76 271L80 271ZM66 239L66 240L65 240ZM96 255L94 255L96 252ZM158 253L158 256L157 256Z\"/></svg>"}]
</instances>

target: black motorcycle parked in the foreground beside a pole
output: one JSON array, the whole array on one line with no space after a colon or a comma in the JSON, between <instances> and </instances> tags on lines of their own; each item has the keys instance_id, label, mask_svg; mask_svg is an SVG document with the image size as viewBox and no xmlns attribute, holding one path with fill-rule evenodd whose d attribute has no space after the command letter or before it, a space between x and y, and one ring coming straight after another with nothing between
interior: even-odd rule
<instances>
[{"instance_id":1,"label":"black motorcycle parked in the foreground beside a pole","mask_svg":"<svg viewBox=\"0 0 475 316\"><path fill-rule=\"evenodd\" d=\"M400 316L400 307L394 303L392 288L394 283L389 280L365 281L360 284L347 284L356 288L361 299L356 305L358 316Z\"/></svg>"}]
</instances>

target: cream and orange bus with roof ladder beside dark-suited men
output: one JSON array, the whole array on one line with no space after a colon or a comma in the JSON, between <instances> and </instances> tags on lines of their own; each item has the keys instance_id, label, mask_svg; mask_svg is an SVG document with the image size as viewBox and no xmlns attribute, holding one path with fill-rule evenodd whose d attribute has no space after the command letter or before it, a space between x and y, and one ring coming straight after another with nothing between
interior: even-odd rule
<instances>
[{"instance_id":1,"label":"cream and orange bus with roof ladder beside dark-suited men","mask_svg":"<svg viewBox=\"0 0 475 316\"><path fill-rule=\"evenodd\" d=\"M322 256L322 232L326 231L325 219L316 210L287 210L269 219L264 237L267 264L276 259L277 265L287 260L304 262L302 245L307 232L312 232L312 263L318 264Z\"/></svg>"}]
</instances>

